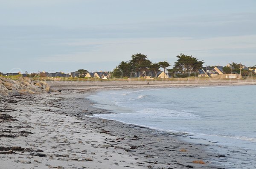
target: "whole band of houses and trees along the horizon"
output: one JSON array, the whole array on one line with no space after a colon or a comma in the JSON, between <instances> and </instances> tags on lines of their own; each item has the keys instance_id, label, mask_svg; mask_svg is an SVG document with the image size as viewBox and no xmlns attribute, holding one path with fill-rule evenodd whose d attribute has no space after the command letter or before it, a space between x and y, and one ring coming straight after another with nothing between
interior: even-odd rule
<instances>
[{"instance_id":1,"label":"whole band of houses and trees along the horizon","mask_svg":"<svg viewBox=\"0 0 256 169\"><path fill-rule=\"evenodd\" d=\"M178 60L172 69L167 61L152 63L144 54L133 54L131 60L122 61L113 71L88 72L79 69L76 72L38 72L38 73L1 73L4 77L35 77L44 80L73 79L175 79L184 77L219 78L219 79L242 79L256 76L256 65L247 67L241 63L228 63L226 66L203 66L204 60L198 60L192 55L177 55ZM160 70L162 68L162 70Z\"/></svg>"}]
</instances>

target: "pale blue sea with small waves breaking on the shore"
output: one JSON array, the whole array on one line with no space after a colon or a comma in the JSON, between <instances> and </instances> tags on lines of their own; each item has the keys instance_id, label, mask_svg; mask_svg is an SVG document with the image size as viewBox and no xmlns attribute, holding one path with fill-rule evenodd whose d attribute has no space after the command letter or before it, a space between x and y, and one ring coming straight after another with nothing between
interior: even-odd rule
<instances>
[{"instance_id":1,"label":"pale blue sea with small waves breaking on the shore","mask_svg":"<svg viewBox=\"0 0 256 169\"><path fill-rule=\"evenodd\" d=\"M256 86L108 90L89 99L113 112L96 117L256 150Z\"/></svg>"}]
</instances>

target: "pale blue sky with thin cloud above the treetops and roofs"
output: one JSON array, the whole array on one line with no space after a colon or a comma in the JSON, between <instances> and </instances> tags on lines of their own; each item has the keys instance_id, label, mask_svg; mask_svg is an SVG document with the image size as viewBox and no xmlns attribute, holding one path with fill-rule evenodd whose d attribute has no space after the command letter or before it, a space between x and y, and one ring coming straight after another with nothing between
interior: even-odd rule
<instances>
[{"instance_id":1,"label":"pale blue sky with thin cloud above the treetops and roofs","mask_svg":"<svg viewBox=\"0 0 256 169\"><path fill-rule=\"evenodd\" d=\"M254 66L255 9L256 0L0 0L0 72L111 71L136 53Z\"/></svg>"}]
</instances>

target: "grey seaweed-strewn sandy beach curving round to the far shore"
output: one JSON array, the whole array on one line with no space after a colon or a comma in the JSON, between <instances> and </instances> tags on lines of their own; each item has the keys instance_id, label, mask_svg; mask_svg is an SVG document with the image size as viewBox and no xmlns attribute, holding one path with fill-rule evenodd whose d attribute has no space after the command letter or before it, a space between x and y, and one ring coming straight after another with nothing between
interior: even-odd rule
<instances>
[{"instance_id":1,"label":"grey seaweed-strewn sandy beach curving round to the far shore","mask_svg":"<svg viewBox=\"0 0 256 169\"><path fill-rule=\"evenodd\" d=\"M1 169L224 169L256 166L255 156L242 150L229 152L224 147L182 141L180 137L189 137L183 133L160 132L92 117L93 114L109 112L93 107L94 103L85 95L103 89L151 87L152 83L113 85L99 82L95 85L77 82L73 86L67 83L49 83L52 89L61 89L61 92L0 97ZM193 83L182 84L189 85L180 86L195 86ZM241 81L221 84L241 85ZM220 82L212 85L220 85ZM236 163L230 159L235 159Z\"/></svg>"}]
</instances>

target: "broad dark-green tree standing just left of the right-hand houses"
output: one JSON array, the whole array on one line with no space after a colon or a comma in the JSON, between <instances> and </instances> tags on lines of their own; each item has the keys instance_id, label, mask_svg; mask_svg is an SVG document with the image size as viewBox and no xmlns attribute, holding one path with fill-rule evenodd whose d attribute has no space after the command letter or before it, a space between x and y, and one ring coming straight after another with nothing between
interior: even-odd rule
<instances>
[{"instance_id":1,"label":"broad dark-green tree standing just left of the right-hand houses","mask_svg":"<svg viewBox=\"0 0 256 169\"><path fill-rule=\"evenodd\" d=\"M198 61L198 59L192 57L192 55L188 56L181 53L177 55L177 58L178 60L175 62L174 69L185 74L198 71L204 64L204 60Z\"/></svg>"}]
</instances>

